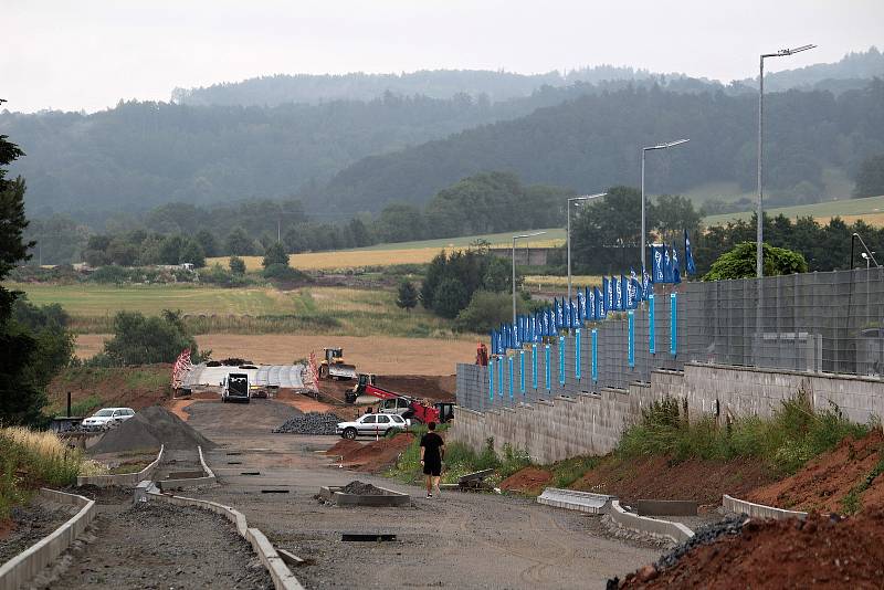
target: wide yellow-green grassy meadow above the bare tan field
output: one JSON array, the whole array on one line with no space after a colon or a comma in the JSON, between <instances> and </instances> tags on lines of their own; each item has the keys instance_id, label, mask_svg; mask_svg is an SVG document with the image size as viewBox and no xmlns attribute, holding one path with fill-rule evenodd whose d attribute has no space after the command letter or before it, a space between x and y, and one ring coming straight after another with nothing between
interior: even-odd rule
<instances>
[{"instance_id":1,"label":"wide yellow-green grassy meadow above the bare tan field","mask_svg":"<svg viewBox=\"0 0 884 590\"><path fill-rule=\"evenodd\" d=\"M396 306L382 289L305 287L218 288L192 285L10 284L39 305L61 304L81 334L110 331L120 310L157 315L181 309L196 334L335 334L350 336L451 337L451 324L418 306Z\"/></svg>"}]
</instances>

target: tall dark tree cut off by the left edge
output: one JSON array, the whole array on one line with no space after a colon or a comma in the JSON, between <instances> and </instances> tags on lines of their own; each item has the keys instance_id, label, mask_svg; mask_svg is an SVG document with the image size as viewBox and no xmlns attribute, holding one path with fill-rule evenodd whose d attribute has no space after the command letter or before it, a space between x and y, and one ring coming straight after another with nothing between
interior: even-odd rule
<instances>
[{"instance_id":1,"label":"tall dark tree cut off by the left edge","mask_svg":"<svg viewBox=\"0 0 884 590\"><path fill-rule=\"evenodd\" d=\"M2 104L2 101L0 101ZM24 240L28 219L24 215L24 181L8 180L7 166L23 156L19 147L0 135L0 422L3 424L33 424L41 421L45 393L29 379L36 340L21 330L12 320L12 305L18 296L2 281L22 261L29 259L33 242Z\"/></svg>"}]
</instances>

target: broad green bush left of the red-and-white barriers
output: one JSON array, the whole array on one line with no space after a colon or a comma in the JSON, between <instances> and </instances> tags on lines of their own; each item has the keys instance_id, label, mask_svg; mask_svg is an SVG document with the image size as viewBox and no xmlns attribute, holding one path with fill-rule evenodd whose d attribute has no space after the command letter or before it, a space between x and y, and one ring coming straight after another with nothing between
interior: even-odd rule
<instances>
[{"instance_id":1,"label":"broad green bush left of the red-and-white barriers","mask_svg":"<svg viewBox=\"0 0 884 590\"><path fill-rule=\"evenodd\" d=\"M185 326L180 312L164 309L161 316L146 317L140 312L118 312L114 316L114 337L104 352L116 365L173 362L181 350L190 348L199 362L197 341Z\"/></svg>"}]
</instances>

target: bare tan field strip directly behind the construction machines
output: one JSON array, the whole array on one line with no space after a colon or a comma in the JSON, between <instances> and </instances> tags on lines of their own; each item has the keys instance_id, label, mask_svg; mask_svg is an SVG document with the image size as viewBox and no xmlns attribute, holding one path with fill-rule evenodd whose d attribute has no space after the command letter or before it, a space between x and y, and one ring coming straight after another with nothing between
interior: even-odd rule
<instances>
[{"instance_id":1,"label":"bare tan field strip directly behind the construction machines","mask_svg":"<svg viewBox=\"0 0 884 590\"><path fill-rule=\"evenodd\" d=\"M473 340L385 336L208 334L197 336L197 343L202 350L211 349L214 358L248 354L265 365L287 364L307 358L312 350L322 355L324 346L340 346L357 370L378 375L450 376L457 362L474 362L476 350Z\"/></svg>"}]
</instances>

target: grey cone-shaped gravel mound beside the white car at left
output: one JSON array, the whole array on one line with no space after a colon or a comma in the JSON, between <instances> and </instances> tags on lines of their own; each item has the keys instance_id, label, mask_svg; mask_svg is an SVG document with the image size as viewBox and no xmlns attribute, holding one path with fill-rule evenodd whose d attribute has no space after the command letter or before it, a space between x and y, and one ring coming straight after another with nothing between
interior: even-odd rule
<instances>
[{"instance_id":1,"label":"grey cone-shaped gravel mound beside the white car at left","mask_svg":"<svg viewBox=\"0 0 884 590\"><path fill-rule=\"evenodd\" d=\"M102 436L90 454L159 449L160 444L169 450L217 446L166 408L151 405Z\"/></svg>"}]
</instances>

